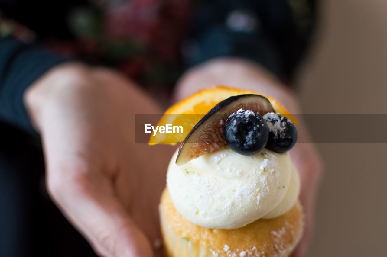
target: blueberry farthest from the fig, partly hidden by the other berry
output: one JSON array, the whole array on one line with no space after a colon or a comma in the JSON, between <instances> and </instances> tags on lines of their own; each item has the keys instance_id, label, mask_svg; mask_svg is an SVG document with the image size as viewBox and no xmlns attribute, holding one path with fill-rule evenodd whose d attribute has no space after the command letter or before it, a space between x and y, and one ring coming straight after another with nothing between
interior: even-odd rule
<instances>
[{"instance_id":1,"label":"blueberry farthest from the fig, partly hidden by the other berry","mask_svg":"<svg viewBox=\"0 0 387 257\"><path fill-rule=\"evenodd\" d=\"M267 113L263 116L269 127L269 140L266 148L276 153L289 151L297 141L297 129L288 118Z\"/></svg>"}]
</instances>

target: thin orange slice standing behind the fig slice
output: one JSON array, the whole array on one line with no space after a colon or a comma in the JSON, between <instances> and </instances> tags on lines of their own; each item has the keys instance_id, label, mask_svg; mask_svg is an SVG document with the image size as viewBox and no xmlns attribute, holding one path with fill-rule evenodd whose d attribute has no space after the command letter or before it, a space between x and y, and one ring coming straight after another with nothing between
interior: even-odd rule
<instances>
[{"instance_id":1,"label":"thin orange slice standing behind the fig slice","mask_svg":"<svg viewBox=\"0 0 387 257\"><path fill-rule=\"evenodd\" d=\"M263 95L269 99L277 113L287 117L293 121L293 123L297 123L295 117L293 117L276 99L268 95L253 90L216 86L202 89L168 108L164 112L157 126L166 126L166 124L182 126L183 133L157 133L155 136L150 137L149 145L161 143L175 145L178 142L182 142L191 129L212 109L212 107L228 97L241 94Z\"/></svg>"}]
</instances>

